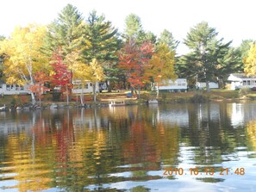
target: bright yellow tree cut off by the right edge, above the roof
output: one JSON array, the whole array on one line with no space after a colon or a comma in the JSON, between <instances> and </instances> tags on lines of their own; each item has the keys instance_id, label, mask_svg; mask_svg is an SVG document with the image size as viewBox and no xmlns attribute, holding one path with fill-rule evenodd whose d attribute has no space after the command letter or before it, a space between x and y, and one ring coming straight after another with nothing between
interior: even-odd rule
<instances>
[{"instance_id":1,"label":"bright yellow tree cut off by the right edge, above the roof","mask_svg":"<svg viewBox=\"0 0 256 192\"><path fill-rule=\"evenodd\" d=\"M250 44L250 50L247 54L247 58L244 59L245 72L249 75L256 75L256 44Z\"/></svg>"}]
</instances>

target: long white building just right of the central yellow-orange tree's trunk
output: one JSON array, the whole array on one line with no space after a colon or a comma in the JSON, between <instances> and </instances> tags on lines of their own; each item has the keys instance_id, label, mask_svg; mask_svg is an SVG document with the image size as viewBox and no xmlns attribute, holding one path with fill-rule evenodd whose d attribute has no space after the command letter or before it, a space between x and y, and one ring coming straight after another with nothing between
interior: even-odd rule
<instances>
[{"instance_id":1,"label":"long white building just right of the central yellow-orange tree's trunk","mask_svg":"<svg viewBox=\"0 0 256 192\"><path fill-rule=\"evenodd\" d=\"M187 79L177 78L174 82L172 80L163 81L159 84L159 92L186 92L188 90Z\"/></svg>"}]
</instances>

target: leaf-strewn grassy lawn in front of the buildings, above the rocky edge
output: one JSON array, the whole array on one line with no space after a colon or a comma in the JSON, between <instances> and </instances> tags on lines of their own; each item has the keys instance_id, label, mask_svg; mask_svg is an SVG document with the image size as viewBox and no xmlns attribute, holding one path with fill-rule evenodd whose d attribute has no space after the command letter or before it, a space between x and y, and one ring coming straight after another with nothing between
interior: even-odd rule
<instances>
[{"instance_id":1,"label":"leaf-strewn grassy lawn in front of the buildings, above the rocky edge","mask_svg":"<svg viewBox=\"0 0 256 192\"><path fill-rule=\"evenodd\" d=\"M127 98L127 93L130 90L120 90L116 92L103 92L97 94L97 101L107 103L109 100L128 100L130 102L138 102L135 97ZM256 99L256 91L247 90L246 93L240 93L239 90L210 90L207 92L206 90L190 90L188 92L178 92L178 93L159 93L159 101L162 102L186 102L190 101L191 98L195 96L203 96L204 98L210 100L226 100L226 99L237 99L241 96L247 96L249 99ZM154 99L156 97L155 92L151 91L141 91L140 98L141 102ZM43 96L41 99L42 103L47 105L53 102L53 96L51 94L47 94ZM87 103L92 102L91 94L84 94L84 101ZM0 107L4 104L6 106L22 106L24 104L30 103L31 97L30 95L26 96L0 96ZM66 98L63 98L62 103L66 103ZM80 102L79 96L72 96L72 104L78 104Z\"/></svg>"}]
</instances>

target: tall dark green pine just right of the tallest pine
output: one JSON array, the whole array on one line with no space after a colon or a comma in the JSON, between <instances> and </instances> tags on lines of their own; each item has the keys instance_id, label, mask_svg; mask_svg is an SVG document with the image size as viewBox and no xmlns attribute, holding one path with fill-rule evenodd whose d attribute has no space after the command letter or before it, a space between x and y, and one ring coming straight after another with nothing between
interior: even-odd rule
<instances>
[{"instance_id":1,"label":"tall dark green pine just right of the tallest pine","mask_svg":"<svg viewBox=\"0 0 256 192\"><path fill-rule=\"evenodd\" d=\"M97 64L103 68L110 91L111 82L118 79L120 72L116 67L118 61L116 53L122 44L117 29L111 22L105 21L104 15L97 15L96 11L92 11L86 20L83 37L84 63L91 63L92 59L97 59Z\"/></svg>"}]
</instances>

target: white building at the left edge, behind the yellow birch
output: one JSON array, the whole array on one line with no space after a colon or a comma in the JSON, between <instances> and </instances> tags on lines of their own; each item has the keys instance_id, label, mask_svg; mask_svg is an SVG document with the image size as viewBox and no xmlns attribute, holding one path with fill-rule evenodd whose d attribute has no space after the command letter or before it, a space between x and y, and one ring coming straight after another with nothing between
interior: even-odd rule
<instances>
[{"instance_id":1,"label":"white building at the left edge, behind the yellow birch","mask_svg":"<svg viewBox=\"0 0 256 192\"><path fill-rule=\"evenodd\" d=\"M28 90L29 85L25 84L24 86L18 84L5 84L0 82L0 96L3 95L27 95L30 94Z\"/></svg>"}]
</instances>

